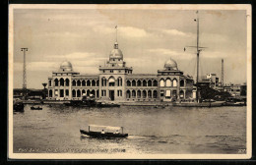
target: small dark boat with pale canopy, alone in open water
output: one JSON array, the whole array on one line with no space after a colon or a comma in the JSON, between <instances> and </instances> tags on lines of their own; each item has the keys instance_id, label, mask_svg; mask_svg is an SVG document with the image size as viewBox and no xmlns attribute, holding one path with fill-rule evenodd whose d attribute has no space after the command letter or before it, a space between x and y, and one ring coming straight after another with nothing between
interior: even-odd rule
<instances>
[{"instance_id":1,"label":"small dark boat with pale canopy, alone in open water","mask_svg":"<svg viewBox=\"0 0 256 165\"><path fill-rule=\"evenodd\" d=\"M121 133L120 133L121 131ZM123 127L89 125L88 131L80 130L82 136L92 138L126 138L128 134L123 134Z\"/></svg>"}]
</instances>

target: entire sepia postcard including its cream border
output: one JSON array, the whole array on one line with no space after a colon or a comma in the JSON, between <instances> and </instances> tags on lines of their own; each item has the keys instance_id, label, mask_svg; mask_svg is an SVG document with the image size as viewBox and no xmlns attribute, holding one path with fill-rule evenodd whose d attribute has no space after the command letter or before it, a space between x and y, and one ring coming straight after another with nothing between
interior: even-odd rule
<instances>
[{"instance_id":1,"label":"entire sepia postcard including its cream border","mask_svg":"<svg viewBox=\"0 0 256 165\"><path fill-rule=\"evenodd\" d=\"M10 5L13 159L248 159L250 5Z\"/></svg>"}]
</instances>

